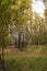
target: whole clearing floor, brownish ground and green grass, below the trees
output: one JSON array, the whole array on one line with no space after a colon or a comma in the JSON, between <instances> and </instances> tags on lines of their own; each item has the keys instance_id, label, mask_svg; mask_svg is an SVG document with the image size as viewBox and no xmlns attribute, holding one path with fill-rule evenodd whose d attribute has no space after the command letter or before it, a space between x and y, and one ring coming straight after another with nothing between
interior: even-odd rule
<instances>
[{"instance_id":1,"label":"whole clearing floor, brownish ground and green grass, below the trees","mask_svg":"<svg viewBox=\"0 0 47 71\"><path fill-rule=\"evenodd\" d=\"M24 51L5 52L5 71L47 71L47 46L30 45Z\"/></svg>"}]
</instances>

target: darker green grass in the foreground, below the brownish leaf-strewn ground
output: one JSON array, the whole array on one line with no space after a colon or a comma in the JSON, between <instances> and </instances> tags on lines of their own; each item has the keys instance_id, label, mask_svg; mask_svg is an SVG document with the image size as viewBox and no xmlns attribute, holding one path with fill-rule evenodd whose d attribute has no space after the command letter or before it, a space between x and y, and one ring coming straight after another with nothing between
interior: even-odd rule
<instances>
[{"instance_id":1,"label":"darker green grass in the foreground, below the brownish leaf-strewn ground","mask_svg":"<svg viewBox=\"0 0 47 71\"><path fill-rule=\"evenodd\" d=\"M7 71L47 71L47 58L13 58L5 63Z\"/></svg>"}]
</instances>

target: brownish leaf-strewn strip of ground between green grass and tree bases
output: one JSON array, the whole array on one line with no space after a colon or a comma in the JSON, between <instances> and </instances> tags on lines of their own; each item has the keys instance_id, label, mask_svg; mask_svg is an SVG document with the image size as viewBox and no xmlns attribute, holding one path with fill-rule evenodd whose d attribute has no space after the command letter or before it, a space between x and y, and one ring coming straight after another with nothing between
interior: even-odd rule
<instances>
[{"instance_id":1,"label":"brownish leaf-strewn strip of ground between green grass and tree bases","mask_svg":"<svg viewBox=\"0 0 47 71\"><path fill-rule=\"evenodd\" d=\"M47 45L30 45L24 50L19 50L16 47L8 47L4 49L5 55L13 55L20 57L46 57Z\"/></svg>"}]
</instances>

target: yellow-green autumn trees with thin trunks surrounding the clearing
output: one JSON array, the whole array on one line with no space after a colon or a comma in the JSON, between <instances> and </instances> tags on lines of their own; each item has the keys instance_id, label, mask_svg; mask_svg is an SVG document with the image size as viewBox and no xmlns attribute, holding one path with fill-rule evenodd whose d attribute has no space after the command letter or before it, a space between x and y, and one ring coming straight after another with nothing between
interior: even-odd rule
<instances>
[{"instance_id":1,"label":"yellow-green autumn trees with thin trunks surrounding the clearing","mask_svg":"<svg viewBox=\"0 0 47 71\"><path fill-rule=\"evenodd\" d=\"M47 0L45 19L35 13L31 0L0 0L0 49L4 70L4 48L28 44L47 44ZM35 17L35 19L34 19ZM4 70L5 71L5 70Z\"/></svg>"}]
</instances>

